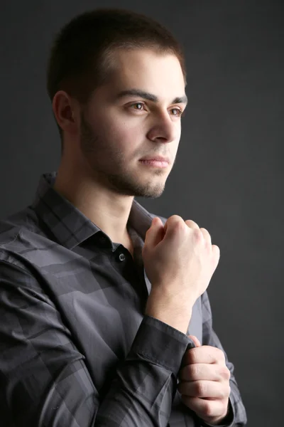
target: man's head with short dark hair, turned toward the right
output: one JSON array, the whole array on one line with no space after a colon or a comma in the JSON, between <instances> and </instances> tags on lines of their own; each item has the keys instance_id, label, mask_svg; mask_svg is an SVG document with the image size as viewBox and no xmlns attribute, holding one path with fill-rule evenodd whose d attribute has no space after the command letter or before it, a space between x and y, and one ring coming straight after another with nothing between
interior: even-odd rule
<instances>
[{"instance_id":1,"label":"man's head with short dark hair, turned toward the right","mask_svg":"<svg viewBox=\"0 0 284 427\"><path fill-rule=\"evenodd\" d=\"M159 196L158 176L168 176L178 149L185 85L182 49L153 19L122 9L77 16L48 63L62 155L83 160L120 194ZM139 162L155 155L168 157L169 167Z\"/></svg>"}]
</instances>

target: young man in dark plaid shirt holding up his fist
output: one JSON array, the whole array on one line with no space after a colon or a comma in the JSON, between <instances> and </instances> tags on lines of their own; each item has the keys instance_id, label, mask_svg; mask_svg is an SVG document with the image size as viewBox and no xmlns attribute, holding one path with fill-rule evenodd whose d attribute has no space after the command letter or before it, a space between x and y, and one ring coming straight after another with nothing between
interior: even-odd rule
<instances>
[{"instance_id":1,"label":"young man in dark plaid shirt holding up his fist","mask_svg":"<svg viewBox=\"0 0 284 427\"><path fill-rule=\"evenodd\" d=\"M89 11L55 39L60 166L0 226L3 426L246 424L206 291L219 248L134 199L163 193L185 85L178 42L146 16Z\"/></svg>"}]
</instances>

